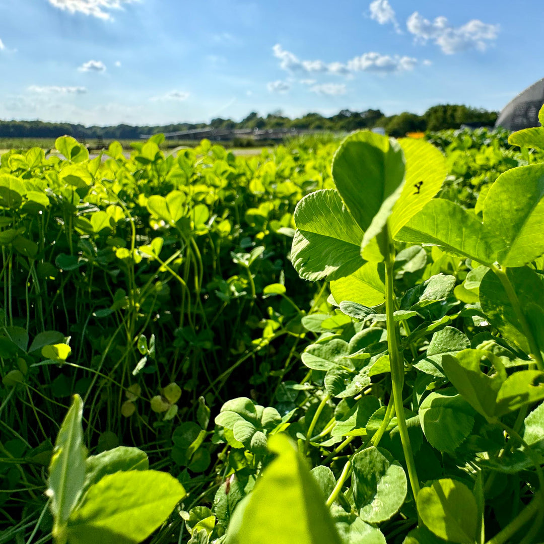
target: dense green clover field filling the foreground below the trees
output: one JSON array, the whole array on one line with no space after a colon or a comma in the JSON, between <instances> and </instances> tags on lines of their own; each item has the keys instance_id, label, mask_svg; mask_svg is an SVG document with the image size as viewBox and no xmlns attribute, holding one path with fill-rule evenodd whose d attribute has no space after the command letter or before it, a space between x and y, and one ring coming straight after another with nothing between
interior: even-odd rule
<instances>
[{"instance_id":1,"label":"dense green clover field filling the foreground below the trees","mask_svg":"<svg viewBox=\"0 0 544 544\"><path fill-rule=\"evenodd\" d=\"M0 544L543 542L531 131L0 140Z\"/></svg>"}]
</instances>

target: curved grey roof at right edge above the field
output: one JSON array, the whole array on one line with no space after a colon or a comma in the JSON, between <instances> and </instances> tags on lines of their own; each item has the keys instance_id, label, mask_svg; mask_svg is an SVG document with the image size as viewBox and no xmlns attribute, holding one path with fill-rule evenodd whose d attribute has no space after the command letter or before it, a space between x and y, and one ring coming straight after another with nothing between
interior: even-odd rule
<instances>
[{"instance_id":1,"label":"curved grey roof at right edge above the field","mask_svg":"<svg viewBox=\"0 0 544 544\"><path fill-rule=\"evenodd\" d=\"M496 127L519 131L539 126L539 110L544 104L544 78L533 83L511 100L498 116Z\"/></svg>"}]
</instances>

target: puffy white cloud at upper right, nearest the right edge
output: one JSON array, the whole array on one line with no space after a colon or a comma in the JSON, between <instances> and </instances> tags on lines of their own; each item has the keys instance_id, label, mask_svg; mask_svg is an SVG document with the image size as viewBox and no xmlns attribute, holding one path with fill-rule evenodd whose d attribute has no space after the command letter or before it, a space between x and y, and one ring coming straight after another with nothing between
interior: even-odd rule
<instances>
[{"instance_id":1,"label":"puffy white cloud at upper right, nearest the right edge","mask_svg":"<svg viewBox=\"0 0 544 544\"><path fill-rule=\"evenodd\" d=\"M497 39L498 24L487 24L473 19L460 27L452 27L446 17L436 17L429 21L417 11L406 21L408 31L416 36L416 41L425 44L434 42L447 55L477 49L485 51L490 42Z\"/></svg>"}]
</instances>

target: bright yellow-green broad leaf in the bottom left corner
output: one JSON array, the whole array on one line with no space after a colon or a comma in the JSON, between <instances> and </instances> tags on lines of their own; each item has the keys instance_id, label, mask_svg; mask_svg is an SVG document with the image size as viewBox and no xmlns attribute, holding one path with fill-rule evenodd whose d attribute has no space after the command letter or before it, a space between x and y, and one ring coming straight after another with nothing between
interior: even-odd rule
<instances>
[{"instance_id":1,"label":"bright yellow-green broad leaf in the bottom left corner","mask_svg":"<svg viewBox=\"0 0 544 544\"><path fill-rule=\"evenodd\" d=\"M72 512L66 535L70 544L137 544L157 529L185 496L183 486L165 472L108 474L89 488Z\"/></svg>"}]
</instances>

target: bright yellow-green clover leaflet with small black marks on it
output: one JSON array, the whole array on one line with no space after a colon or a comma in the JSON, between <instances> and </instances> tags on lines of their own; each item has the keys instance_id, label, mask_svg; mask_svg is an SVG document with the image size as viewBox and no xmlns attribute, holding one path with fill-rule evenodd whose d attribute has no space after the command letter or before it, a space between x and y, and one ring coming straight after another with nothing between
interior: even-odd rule
<instances>
[{"instance_id":1,"label":"bright yellow-green clover leaflet with small black marks on it","mask_svg":"<svg viewBox=\"0 0 544 544\"><path fill-rule=\"evenodd\" d=\"M399 144L406 160L406 181L389 218L393 236L438 193L447 174L446 158L435 146L413 138L402 138Z\"/></svg>"}]
</instances>

